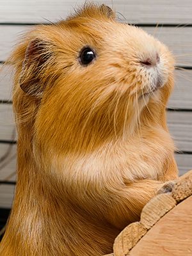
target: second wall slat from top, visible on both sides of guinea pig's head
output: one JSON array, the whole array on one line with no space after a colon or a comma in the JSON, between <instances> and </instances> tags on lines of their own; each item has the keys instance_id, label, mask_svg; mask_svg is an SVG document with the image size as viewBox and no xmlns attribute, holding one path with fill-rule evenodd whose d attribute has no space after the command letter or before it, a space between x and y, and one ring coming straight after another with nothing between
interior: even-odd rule
<instances>
[{"instance_id":1,"label":"second wall slat from top, visible on both sides of guinea pig's head","mask_svg":"<svg viewBox=\"0 0 192 256\"><path fill-rule=\"evenodd\" d=\"M191 1L192 3L192 1ZM13 45L16 45L20 36L33 26L3 26L0 25L0 61L6 60ZM192 27L187 28L143 28L155 35L177 56L177 65L192 65ZM170 36L171 35L171 36Z\"/></svg>"}]
</instances>

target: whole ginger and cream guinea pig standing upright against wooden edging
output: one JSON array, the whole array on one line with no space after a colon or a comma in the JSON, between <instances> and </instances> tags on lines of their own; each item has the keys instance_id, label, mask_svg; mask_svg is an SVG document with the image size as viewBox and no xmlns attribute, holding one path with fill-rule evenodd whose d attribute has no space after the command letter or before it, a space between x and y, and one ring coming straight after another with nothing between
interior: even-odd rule
<instances>
[{"instance_id":1,"label":"whole ginger and cream guinea pig standing upright against wooden edging","mask_svg":"<svg viewBox=\"0 0 192 256\"><path fill-rule=\"evenodd\" d=\"M10 56L17 186L1 256L90 256L177 178L174 59L104 5L36 26Z\"/></svg>"}]
</instances>

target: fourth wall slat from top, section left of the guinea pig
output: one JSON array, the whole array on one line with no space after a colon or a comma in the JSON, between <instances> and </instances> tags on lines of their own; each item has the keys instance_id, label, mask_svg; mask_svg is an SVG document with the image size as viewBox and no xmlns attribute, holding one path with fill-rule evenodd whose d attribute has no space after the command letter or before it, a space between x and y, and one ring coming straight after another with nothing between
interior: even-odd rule
<instances>
[{"instance_id":1,"label":"fourth wall slat from top, section left of the guinea pig","mask_svg":"<svg viewBox=\"0 0 192 256\"><path fill-rule=\"evenodd\" d=\"M0 140L15 140L12 104L0 104Z\"/></svg>"}]
</instances>

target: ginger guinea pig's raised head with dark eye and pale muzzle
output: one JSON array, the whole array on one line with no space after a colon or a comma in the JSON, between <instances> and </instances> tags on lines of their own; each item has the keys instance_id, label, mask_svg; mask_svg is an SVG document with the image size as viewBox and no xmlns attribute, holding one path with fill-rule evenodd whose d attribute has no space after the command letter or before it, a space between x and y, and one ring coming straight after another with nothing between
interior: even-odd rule
<instances>
[{"instance_id":1,"label":"ginger guinea pig's raised head with dark eye and pale muzzle","mask_svg":"<svg viewBox=\"0 0 192 256\"><path fill-rule=\"evenodd\" d=\"M163 125L173 87L167 47L106 6L30 31L12 56L20 138L39 155L90 152ZM53 154L53 152L56 152Z\"/></svg>"}]
</instances>

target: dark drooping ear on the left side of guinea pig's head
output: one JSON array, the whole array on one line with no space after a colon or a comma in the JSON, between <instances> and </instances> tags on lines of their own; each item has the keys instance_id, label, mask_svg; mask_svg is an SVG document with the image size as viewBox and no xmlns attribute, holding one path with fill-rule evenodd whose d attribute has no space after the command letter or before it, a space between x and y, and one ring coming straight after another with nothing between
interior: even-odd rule
<instances>
[{"instance_id":1,"label":"dark drooping ear on the left side of guinea pig's head","mask_svg":"<svg viewBox=\"0 0 192 256\"><path fill-rule=\"evenodd\" d=\"M45 88L42 70L50 56L47 42L34 39L29 43L19 78L20 88L28 95L38 98L42 96Z\"/></svg>"}]
</instances>

